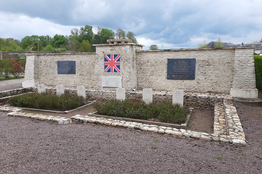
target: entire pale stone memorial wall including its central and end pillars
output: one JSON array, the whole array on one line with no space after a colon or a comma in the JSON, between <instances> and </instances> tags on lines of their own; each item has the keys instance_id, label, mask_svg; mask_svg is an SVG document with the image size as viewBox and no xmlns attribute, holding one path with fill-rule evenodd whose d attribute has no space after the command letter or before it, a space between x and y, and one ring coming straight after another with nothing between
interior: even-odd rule
<instances>
[{"instance_id":1,"label":"entire pale stone memorial wall including its central and end pillars","mask_svg":"<svg viewBox=\"0 0 262 174\"><path fill-rule=\"evenodd\" d=\"M23 87L61 84L67 87L127 91L182 89L256 98L253 47L222 49L142 50L128 39L111 39L96 53L26 54ZM120 72L105 72L104 55L120 55ZM59 74L59 61L75 62L75 74ZM67 68L62 68L67 69ZM114 77L116 79L110 79ZM122 78L121 81L117 78Z\"/></svg>"}]
</instances>

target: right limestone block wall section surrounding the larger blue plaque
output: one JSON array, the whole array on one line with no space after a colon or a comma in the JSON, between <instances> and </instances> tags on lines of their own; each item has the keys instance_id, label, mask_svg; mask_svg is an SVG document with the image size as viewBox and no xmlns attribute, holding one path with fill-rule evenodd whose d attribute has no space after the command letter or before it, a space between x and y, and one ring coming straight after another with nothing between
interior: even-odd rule
<instances>
[{"instance_id":1,"label":"right limestone block wall section surrounding the larger blue plaque","mask_svg":"<svg viewBox=\"0 0 262 174\"><path fill-rule=\"evenodd\" d=\"M229 93L235 49L137 51L138 89ZM167 80L167 59L195 58L195 80Z\"/></svg>"}]
</instances>

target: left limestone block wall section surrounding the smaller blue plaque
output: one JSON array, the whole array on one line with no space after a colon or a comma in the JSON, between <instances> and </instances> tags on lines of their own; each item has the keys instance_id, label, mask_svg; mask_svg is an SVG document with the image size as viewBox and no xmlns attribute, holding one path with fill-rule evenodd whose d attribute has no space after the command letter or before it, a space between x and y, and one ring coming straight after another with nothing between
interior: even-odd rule
<instances>
[{"instance_id":1,"label":"left limestone block wall section surrounding the smaller blue plaque","mask_svg":"<svg viewBox=\"0 0 262 174\"><path fill-rule=\"evenodd\" d=\"M79 86L87 88L94 87L94 63L95 53L47 53L38 55L27 55L27 62L31 56L37 56L35 65L35 76L39 83L45 85ZM29 59L28 59L29 58ZM57 61L75 61L75 74L58 74ZM26 62L26 64L27 64ZM26 66L28 67L28 66ZM29 66L30 67L30 66ZM25 80L29 80L25 74Z\"/></svg>"}]
</instances>

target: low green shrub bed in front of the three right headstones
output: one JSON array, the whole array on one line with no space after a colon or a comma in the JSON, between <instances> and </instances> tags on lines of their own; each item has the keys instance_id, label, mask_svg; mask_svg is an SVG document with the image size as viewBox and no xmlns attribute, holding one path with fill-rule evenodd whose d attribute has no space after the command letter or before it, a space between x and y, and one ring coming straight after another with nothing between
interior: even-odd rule
<instances>
[{"instance_id":1,"label":"low green shrub bed in front of the three right headstones","mask_svg":"<svg viewBox=\"0 0 262 174\"><path fill-rule=\"evenodd\" d=\"M189 109L171 103L145 104L129 100L110 100L104 104L94 104L98 114L133 119L158 119L160 122L184 123Z\"/></svg>"}]
</instances>

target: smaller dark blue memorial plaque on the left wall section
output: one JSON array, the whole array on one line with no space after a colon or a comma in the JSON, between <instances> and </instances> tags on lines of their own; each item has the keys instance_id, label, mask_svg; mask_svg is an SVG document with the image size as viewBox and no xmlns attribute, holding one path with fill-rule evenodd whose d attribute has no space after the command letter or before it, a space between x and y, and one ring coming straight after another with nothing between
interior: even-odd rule
<instances>
[{"instance_id":1,"label":"smaller dark blue memorial plaque on the left wall section","mask_svg":"<svg viewBox=\"0 0 262 174\"><path fill-rule=\"evenodd\" d=\"M57 61L58 74L75 74L75 61Z\"/></svg>"}]
</instances>

